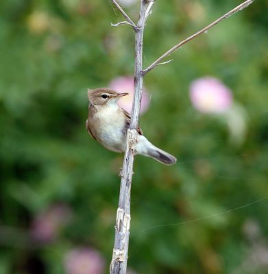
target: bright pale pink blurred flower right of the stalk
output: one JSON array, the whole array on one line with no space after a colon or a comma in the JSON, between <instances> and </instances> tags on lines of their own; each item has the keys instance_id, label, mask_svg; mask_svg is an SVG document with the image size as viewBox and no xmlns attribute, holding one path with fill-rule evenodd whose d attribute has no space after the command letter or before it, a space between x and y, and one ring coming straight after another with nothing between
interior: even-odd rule
<instances>
[{"instance_id":1,"label":"bright pale pink blurred flower right of the stalk","mask_svg":"<svg viewBox=\"0 0 268 274\"><path fill-rule=\"evenodd\" d=\"M192 82L190 97L193 106L203 113L223 113L232 105L232 92L219 79L203 77Z\"/></svg>"}]
</instances>

